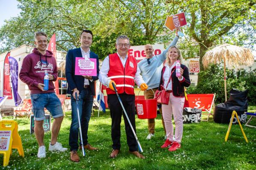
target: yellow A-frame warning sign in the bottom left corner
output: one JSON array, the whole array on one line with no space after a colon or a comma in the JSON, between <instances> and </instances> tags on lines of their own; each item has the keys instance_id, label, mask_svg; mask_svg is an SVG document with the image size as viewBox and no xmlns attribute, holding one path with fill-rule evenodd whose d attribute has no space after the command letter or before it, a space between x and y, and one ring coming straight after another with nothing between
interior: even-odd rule
<instances>
[{"instance_id":1,"label":"yellow A-frame warning sign in the bottom left corner","mask_svg":"<svg viewBox=\"0 0 256 170\"><path fill-rule=\"evenodd\" d=\"M12 149L18 149L19 155L24 157L18 123L14 120L0 121L0 154L3 154L4 167L9 164Z\"/></svg>"}]
</instances>

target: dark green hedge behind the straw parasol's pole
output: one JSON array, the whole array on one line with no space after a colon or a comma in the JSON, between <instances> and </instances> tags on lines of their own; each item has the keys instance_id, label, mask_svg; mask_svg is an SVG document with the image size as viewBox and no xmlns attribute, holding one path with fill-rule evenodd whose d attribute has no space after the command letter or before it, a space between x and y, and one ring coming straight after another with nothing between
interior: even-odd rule
<instances>
[{"instance_id":1,"label":"dark green hedge behind the straw parasol's pole","mask_svg":"<svg viewBox=\"0 0 256 170\"><path fill-rule=\"evenodd\" d=\"M225 102L224 91L224 69L217 64L211 64L204 71L201 71L200 81L195 87L188 88L188 94L216 94L215 101L217 103ZM248 89L248 101L250 104L256 104L256 69L255 70L242 70L235 71L226 69L226 87L227 96L232 88L244 91Z\"/></svg>"}]
</instances>

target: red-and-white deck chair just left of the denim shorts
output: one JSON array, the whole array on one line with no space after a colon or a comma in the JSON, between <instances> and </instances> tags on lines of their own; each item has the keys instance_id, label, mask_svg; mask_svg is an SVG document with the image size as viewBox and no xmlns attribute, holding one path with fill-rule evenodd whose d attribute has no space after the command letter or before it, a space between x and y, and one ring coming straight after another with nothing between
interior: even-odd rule
<instances>
[{"instance_id":1,"label":"red-and-white deck chair just left of the denim shorts","mask_svg":"<svg viewBox=\"0 0 256 170\"><path fill-rule=\"evenodd\" d=\"M14 110L14 117L13 117L13 119L15 119L17 115L25 116L26 113L28 114L28 117L29 117L31 112L32 112L31 99L23 99L21 104L20 104L20 106L18 106L18 109Z\"/></svg>"}]
</instances>

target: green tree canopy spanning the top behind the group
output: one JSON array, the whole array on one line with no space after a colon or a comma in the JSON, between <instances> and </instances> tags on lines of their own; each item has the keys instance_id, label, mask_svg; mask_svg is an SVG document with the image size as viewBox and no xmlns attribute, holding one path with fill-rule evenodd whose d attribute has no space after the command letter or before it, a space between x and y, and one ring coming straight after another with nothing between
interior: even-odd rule
<instances>
[{"instance_id":1,"label":"green tree canopy spanning the top behind the group","mask_svg":"<svg viewBox=\"0 0 256 170\"><path fill-rule=\"evenodd\" d=\"M95 35L92 50L104 58L115 51L114 39L126 34L132 45L168 44L174 33L165 28L167 15L185 12L186 40L179 46L188 56L222 42L241 45L255 41L255 0L18 0L21 14L0 28L0 52L21 44L33 45L39 30L57 35L57 49L79 47L82 29ZM239 29L239 32L238 32ZM241 30L241 32L240 32ZM235 33L234 33L235 32Z\"/></svg>"}]
</instances>

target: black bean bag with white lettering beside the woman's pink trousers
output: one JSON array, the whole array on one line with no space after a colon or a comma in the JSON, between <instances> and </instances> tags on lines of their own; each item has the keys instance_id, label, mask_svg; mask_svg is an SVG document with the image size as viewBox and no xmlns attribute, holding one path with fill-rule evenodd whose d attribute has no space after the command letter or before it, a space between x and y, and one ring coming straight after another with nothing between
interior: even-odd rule
<instances>
[{"instance_id":1,"label":"black bean bag with white lettering beside the woman's pink trousers","mask_svg":"<svg viewBox=\"0 0 256 170\"><path fill-rule=\"evenodd\" d=\"M183 109L183 123L199 123L201 122L201 115L201 109L186 107Z\"/></svg>"}]
</instances>

